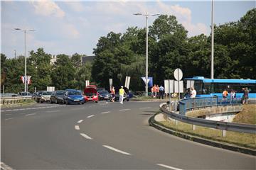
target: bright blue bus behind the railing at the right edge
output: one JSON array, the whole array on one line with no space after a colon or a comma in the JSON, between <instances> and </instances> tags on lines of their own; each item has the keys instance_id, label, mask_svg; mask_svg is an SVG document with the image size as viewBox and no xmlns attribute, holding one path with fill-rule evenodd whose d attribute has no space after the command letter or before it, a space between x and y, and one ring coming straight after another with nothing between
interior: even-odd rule
<instances>
[{"instance_id":1,"label":"bright blue bus behind the railing at the right edge","mask_svg":"<svg viewBox=\"0 0 256 170\"><path fill-rule=\"evenodd\" d=\"M206 79L205 77L193 77L185 80L185 87L189 88L190 84L196 89L196 97L222 97L226 89L230 94L231 90L235 91L236 96L242 97L242 88L247 87L250 91L249 100L256 100L256 80L255 79Z\"/></svg>"}]
</instances>

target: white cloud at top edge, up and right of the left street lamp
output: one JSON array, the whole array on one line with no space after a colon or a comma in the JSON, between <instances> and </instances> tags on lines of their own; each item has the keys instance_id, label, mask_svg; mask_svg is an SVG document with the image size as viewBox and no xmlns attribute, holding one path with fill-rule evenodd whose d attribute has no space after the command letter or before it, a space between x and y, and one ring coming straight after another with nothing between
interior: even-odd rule
<instances>
[{"instance_id":1,"label":"white cloud at top edge, up and right of the left street lamp","mask_svg":"<svg viewBox=\"0 0 256 170\"><path fill-rule=\"evenodd\" d=\"M55 16L58 18L63 18L65 12L57 5L54 1L30 1L33 5L35 12L42 16Z\"/></svg>"}]
</instances>

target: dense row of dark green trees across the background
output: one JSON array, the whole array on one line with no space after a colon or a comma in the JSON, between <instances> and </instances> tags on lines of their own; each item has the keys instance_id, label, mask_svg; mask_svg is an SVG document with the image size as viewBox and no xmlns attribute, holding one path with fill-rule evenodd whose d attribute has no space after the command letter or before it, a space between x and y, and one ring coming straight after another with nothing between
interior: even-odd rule
<instances>
[{"instance_id":1,"label":"dense row of dark green trees across the background","mask_svg":"<svg viewBox=\"0 0 256 170\"><path fill-rule=\"evenodd\" d=\"M215 78L256 79L256 8L247 11L239 21L215 26ZM149 26L149 77L154 83L174 79L174 69L181 68L183 77L210 77L211 35L187 36L188 31L175 16L161 15ZM130 27L125 33L110 32L102 36L94 49L95 60L81 64L81 55L58 55L50 64L51 55L42 48L30 52L27 74L32 76L29 91L46 86L55 89L83 89L85 80L108 89L124 85L131 77L130 89L144 91L146 29ZM1 87L6 92L23 91L21 75L24 57L8 59L1 54Z\"/></svg>"}]
</instances>

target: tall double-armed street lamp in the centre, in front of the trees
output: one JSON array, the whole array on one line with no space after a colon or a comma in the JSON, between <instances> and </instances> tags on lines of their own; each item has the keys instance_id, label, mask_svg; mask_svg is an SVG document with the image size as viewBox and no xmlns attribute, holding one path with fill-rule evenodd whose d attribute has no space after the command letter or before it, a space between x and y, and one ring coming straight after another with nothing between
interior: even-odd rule
<instances>
[{"instance_id":1,"label":"tall double-armed street lamp in the centre, in front of the trees","mask_svg":"<svg viewBox=\"0 0 256 170\"><path fill-rule=\"evenodd\" d=\"M145 89L146 89L146 96L148 96L148 89L149 89L149 86L148 86L148 55L149 55L149 50L148 50L148 34L149 34L149 28L148 28L148 18L149 16L159 16L160 13L155 13L155 14L148 14L146 12L146 14L142 14L142 13L134 13L135 16L146 16L146 86L145 86Z\"/></svg>"}]
</instances>

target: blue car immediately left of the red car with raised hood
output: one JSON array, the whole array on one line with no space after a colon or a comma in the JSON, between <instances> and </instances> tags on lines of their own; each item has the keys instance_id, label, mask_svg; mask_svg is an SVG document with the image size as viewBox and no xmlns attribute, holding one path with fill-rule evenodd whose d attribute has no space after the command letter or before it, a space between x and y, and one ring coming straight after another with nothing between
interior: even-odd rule
<instances>
[{"instance_id":1,"label":"blue car immediately left of the red car with raised hood","mask_svg":"<svg viewBox=\"0 0 256 170\"><path fill-rule=\"evenodd\" d=\"M65 104L70 103L85 103L85 98L82 96L82 92L78 90L69 90L65 91L65 94L63 96L63 101Z\"/></svg>"}]
</instances>

